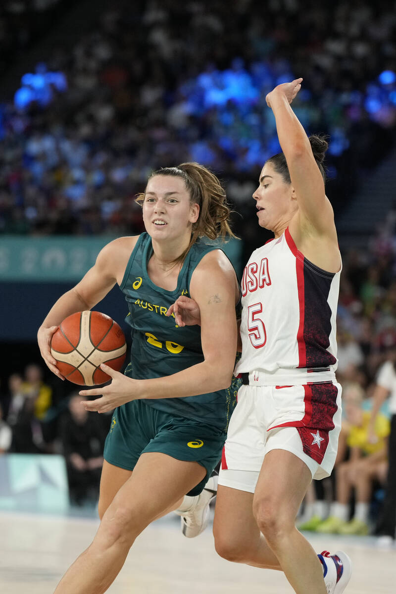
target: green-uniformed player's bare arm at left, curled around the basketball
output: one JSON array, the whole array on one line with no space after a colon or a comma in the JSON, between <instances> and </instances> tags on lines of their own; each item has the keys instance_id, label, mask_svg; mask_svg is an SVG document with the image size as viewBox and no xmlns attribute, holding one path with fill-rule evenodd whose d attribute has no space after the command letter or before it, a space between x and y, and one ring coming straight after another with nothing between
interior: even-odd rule
<instances>
[{"instance_id":1,"label":"green-uniformed player's bare arm at left, curled around the basketball","mask_svg":"<svg viewBox=\"0 0 396 594\"><path fill-rule=\"evenodd\" d=\"M123 271L136 241L137 238L122 237L105 245L99 252L94 266L75 287L59 297L40 326L37 332L40 353L47 367L59 378L64 379L50 352L53 334L68 315L93 308L116 282L121 282Z\"/></svg>"}]
</instances>

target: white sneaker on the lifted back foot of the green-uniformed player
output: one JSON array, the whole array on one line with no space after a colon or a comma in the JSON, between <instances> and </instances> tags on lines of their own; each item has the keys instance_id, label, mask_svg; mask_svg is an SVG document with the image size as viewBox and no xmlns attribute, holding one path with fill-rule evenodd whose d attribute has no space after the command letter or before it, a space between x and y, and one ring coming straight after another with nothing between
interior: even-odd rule
<instances>
[{"instance_id":1,"label":"white sneaker on the lifted back foot of the green-uniformed player","mask_svg":"<svg viewBox=\"0 0 396 594\"><path fill-rule=\"evenodd\" d=\"M209 520L209 504L217 495L218 475L210 476L197 500L192 504L188 511L179 513L182 533L187 538L194 538L201 532L204 532Z\"/></svg>"}]
</instances>

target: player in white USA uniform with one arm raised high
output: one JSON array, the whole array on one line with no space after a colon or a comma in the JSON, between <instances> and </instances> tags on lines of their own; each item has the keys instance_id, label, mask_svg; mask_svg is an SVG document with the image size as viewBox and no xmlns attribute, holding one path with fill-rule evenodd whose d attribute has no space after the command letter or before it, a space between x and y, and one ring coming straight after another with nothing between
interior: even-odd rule
<instances>
[{"instance_id":1,"label":"player in white USA uniform with one arm raised high","mask_svg":"<svg viewBox=\"0 0 396 594\"><path fill-rule=\"evenodd\" d=\"M221 557L283 570L297 594L341 594L347 555L316 555L294 524L312 478L332 470L341 425L341 256L321 165L327 143L309 139L290 107L301 82L267 95L283 153L265 163L253 198L274 239L243 273L236 373L244 385L223 450L214 536ZM194 307L179 298L176 321L197 323Z\"/></svg>"}]
</instances>

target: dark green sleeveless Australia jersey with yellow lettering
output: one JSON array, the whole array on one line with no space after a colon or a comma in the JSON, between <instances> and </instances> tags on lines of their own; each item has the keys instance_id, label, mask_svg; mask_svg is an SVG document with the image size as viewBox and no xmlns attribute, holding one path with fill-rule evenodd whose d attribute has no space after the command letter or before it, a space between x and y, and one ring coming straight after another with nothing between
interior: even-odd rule
<instances>
[{"instance_id":1,"label":"dark green sleeveless Australia jersey with yellow lettering","mask_svg":"<svg viewBox=\"0 0 396 594\"><path fill-rule=\"evenodd\" d=\"M131 326L131 362L125 374L138 380L163 377L204 361L201 327L179 327L167 309L180 295L189 295L192 273L205 254L218 249L199 239L188 252L178 276L178 286L168 291L151 281L147 263L153 254L151 237L142 233L132 251L121 283L128 303L126 322ZM221 345L218 345L221 349ZM147 399L146 405L182 416L205 421L227 429L236 404L240 381L233 380L226 390L185 398Z\"/></svg>"}]
</instances>

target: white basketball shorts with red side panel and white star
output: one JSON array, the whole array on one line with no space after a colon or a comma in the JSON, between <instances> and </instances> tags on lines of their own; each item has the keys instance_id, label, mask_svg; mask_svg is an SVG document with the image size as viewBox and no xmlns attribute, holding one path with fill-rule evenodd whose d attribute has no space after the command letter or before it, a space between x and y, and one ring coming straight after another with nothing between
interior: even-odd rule
<instances>
[{"instance_id":1,"label":"white basketball shorts with red side panel and white star","mask_svg":"<svg viewBox=\"0 0 396 594\"><path fill-rule=\"evenodd\" d=\"M334 466L340 429L341 386L336 382L241 386L218 484L254 493L271 450L290 451L305 462L312 478L325 478Z\"/></svg>"}]
</instances>

